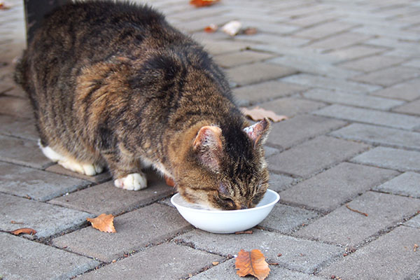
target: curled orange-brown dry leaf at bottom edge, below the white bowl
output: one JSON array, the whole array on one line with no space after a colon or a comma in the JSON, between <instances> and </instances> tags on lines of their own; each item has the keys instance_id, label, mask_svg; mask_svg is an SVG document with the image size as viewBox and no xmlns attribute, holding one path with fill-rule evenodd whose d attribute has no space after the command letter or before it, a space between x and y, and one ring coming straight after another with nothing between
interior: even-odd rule
<instances>
[{"instance_id":1,"label":"curled orange-brown dry leaf at bottom edge, below the white bowl","mask_svg":"<svg viewBox=\"0 0 420 280\"><path fill-rule=\"evenodd\" d=\"M269 274L265 256L258 249L254 249L251 252L241 249L236 258L235 267L238 269L237 274L241 277L251 274L257 277L258 280L264 280Z\"/></svg>"}]
</instances>

